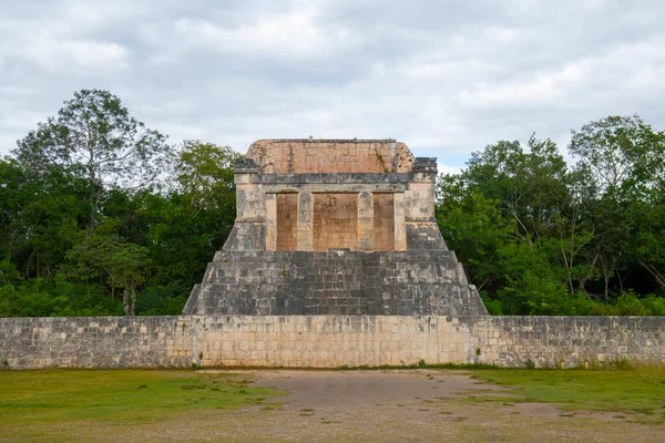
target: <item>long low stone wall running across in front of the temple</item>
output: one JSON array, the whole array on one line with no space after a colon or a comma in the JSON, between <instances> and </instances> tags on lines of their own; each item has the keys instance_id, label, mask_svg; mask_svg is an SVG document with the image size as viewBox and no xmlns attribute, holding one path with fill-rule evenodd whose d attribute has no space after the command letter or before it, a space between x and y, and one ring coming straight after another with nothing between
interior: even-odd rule
<instances>
[{"instance_id":1,"label":"long low stone wall running across in front of the temple","mask_svg":"<svg viewBox=\"0 0 665 443\"><path fill-rule=\"evenodd\" d=\"M665 362L663 317L178 316L0 319L0 364L37 368ZM1 368L1 367L0 367Z\"/></svg>"}]
</instances>

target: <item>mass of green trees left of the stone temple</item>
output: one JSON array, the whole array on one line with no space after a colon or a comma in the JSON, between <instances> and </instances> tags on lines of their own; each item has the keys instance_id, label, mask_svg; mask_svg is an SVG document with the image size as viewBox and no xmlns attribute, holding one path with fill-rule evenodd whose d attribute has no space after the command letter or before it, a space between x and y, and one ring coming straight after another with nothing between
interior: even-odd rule
<instances>
[{"instance_id":1,"label":"mass of green trees left of the stone temple","mask_svg":"<svg viewBox=\"0 0 665 443\"><path fill-rule=\"evenodd\" d=\"M18 145L0 158L0 317L180 313L233 227L238 155L176 155L98 90Z\"/></svg>"}]
</instances>

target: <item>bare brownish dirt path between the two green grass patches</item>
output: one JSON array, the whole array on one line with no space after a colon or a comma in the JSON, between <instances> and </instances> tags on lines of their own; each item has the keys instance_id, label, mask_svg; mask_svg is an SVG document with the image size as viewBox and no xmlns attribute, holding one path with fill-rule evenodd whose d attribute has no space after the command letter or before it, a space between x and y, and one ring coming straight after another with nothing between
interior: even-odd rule
<instances>
[{"instance_id":1,"label":"bare brownish dirt path between the two green grass patches","mask_svg":"<svg viewBox=\"0 0 665 443\"><path fill-rule=\"evenodd\" d=\"M264 435L287 441L665 440L662 426L626 423L617 414L477 402L508 394L454 371L277 371L256 377L258 385L290 392L263 429Z\"/></svg>"}]
</instances>

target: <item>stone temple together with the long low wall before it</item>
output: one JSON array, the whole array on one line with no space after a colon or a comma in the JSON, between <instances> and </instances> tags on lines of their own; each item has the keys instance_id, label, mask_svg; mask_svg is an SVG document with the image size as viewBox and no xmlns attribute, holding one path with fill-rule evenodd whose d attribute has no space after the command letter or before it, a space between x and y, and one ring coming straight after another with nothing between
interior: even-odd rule
<instances>
[{"instance_id":1,"label":"stone temple together with the long low wall before it","mask_svg":"<svg viewBox=\"0 0 665 443\"><path fill-rule=\"evenodd\" d=\"M487 316L437 227L436 171L390 140L256 142L184 315L0 319L0 370L665 362L663 317Z\"/></svg>"}]
</instances>

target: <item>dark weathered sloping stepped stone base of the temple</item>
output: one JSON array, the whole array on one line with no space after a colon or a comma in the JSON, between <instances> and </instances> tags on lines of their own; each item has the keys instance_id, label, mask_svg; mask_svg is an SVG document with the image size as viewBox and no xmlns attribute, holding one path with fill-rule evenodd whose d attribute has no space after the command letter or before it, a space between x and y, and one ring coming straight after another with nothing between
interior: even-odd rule
<instances>
[{"instance_id":1,"label":"dark weathered sloping stepped stone base of the temple","mask_svg":"<svg viewBox=\"0 0 665 443\"><path fill-rule=\"evenodd\" d=\"M449 250L218 251L183 313L487 313Z\"/></svg>"}]
</instances>

